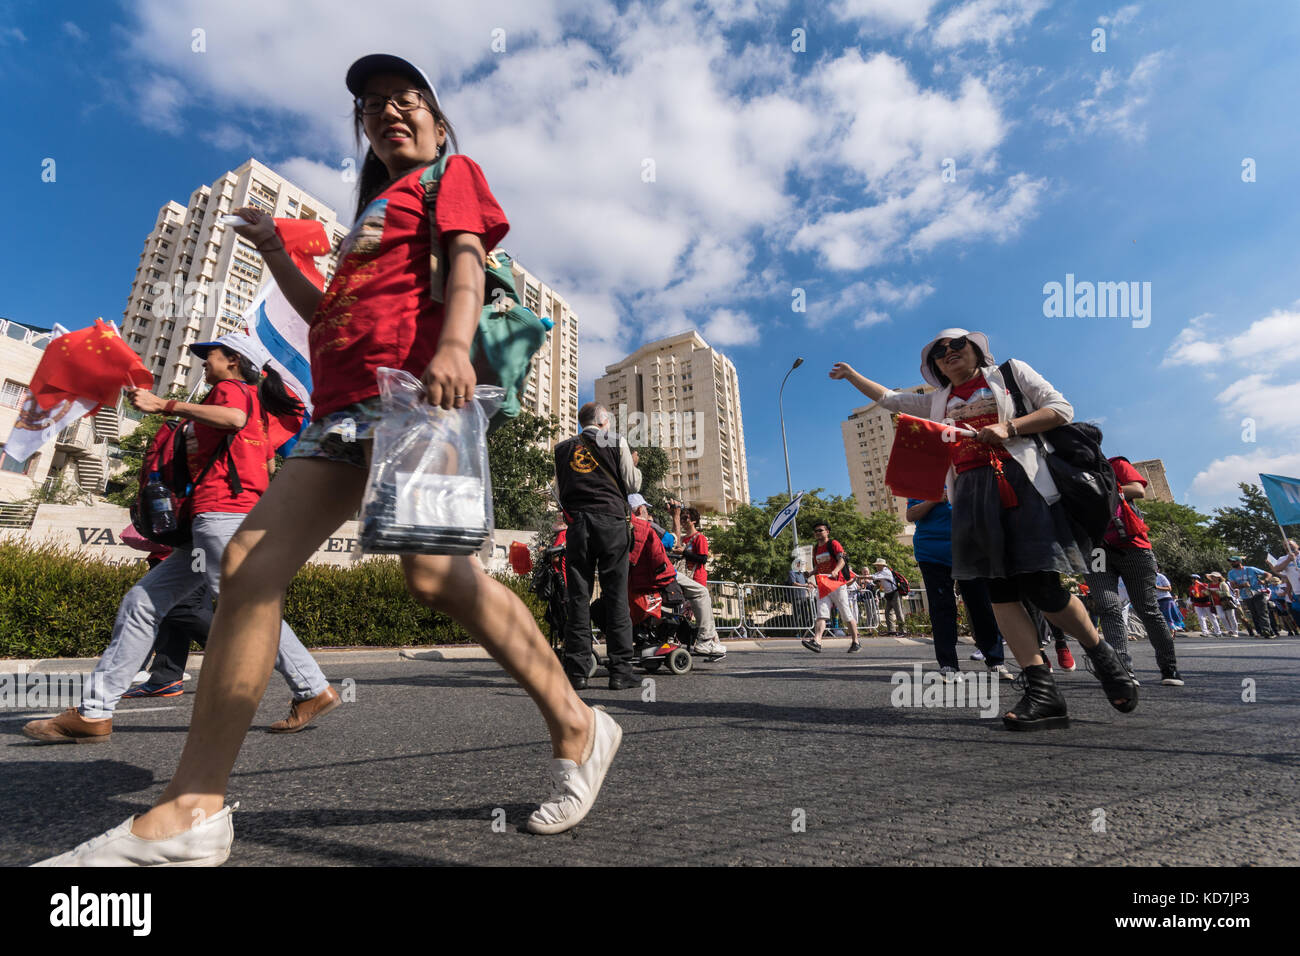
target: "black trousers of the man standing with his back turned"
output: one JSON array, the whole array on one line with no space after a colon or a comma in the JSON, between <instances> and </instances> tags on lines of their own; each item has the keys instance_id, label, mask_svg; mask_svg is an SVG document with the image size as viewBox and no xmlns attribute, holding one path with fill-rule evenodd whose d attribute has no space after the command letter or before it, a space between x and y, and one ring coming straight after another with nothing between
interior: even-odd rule
<instances>
[{"instance_id":1,"label":"black trousers of the man standing with his back turned","mask_svg":"<svg viewBox=\"0 0 1300 956\"><path fill-rule=\"evenodd\" d=\"M592 583L601 576L610 676L632 676L632 618L628 615L628 520L621 515L569 512L564 538L568 600L564 604L564 672L592 670Z\"/></svg>"}]
</instances>

